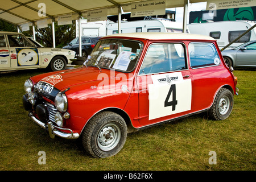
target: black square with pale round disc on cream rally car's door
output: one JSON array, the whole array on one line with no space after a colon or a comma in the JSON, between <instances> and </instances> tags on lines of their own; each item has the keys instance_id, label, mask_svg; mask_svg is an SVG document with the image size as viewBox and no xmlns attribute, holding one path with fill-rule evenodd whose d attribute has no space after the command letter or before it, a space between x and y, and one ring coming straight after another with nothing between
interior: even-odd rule
<instances>
[{"instance_id":1,"label":"black square with pale round disc on cream rally car's door","mask_svg":"<svg viewBox=\"0 0 256 182\"><path fill-rule=\"evenodd\" d=\"M17 65L39 65L38 49L36 48L16 48Z\"/></svg>"}]
</instances>

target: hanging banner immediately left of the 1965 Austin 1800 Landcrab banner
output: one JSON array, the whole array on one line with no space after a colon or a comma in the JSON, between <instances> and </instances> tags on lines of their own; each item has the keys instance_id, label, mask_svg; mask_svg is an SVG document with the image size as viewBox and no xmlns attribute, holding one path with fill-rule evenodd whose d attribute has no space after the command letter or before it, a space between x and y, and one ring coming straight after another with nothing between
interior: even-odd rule
<instances>
[{"instance_id":1,"label":"hanging banner immediately left of the 1965 Austin 1800 Landcrab banner","mask_svg":"<svg viewBox=\"0 0 256 182\"><path fill-rule=\"evenodd\" d=\"M108 9L93 10L87 12L87 22L98 22L107 19Z\"/></svg>"}]
</instances>

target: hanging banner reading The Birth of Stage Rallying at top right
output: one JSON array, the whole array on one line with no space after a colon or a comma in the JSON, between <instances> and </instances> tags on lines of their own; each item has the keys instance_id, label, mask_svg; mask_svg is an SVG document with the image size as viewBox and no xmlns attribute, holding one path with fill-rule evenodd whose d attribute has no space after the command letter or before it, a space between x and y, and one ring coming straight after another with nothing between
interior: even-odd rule
<instances>
[{"instance_id":1,"label":"hanging banner reading The Birth of Stage Rallying at top right","mask_svg":"<svg viewBox=\"0 0 256 182\"><path fill-rule=\"evenodd\" d=\"M256 0L208 0L206 10L256 6Z\"/></svg>"}]
</instances>

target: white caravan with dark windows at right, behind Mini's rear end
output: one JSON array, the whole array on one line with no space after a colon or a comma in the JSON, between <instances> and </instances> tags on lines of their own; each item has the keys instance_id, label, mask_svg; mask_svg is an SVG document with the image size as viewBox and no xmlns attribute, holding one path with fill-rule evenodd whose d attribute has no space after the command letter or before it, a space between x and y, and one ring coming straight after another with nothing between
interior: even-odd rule
<instances>
[{"instance_id":1,"label":"white caravan with dark windows at right, behind Mini's rear end","mask_svg":"<svg viewBox=\"0 0 256 182\"><path fill-rule=\"evenodd\" d=\"M218 47L223 48L243 34L250 27L254 26L255 22L246 20L236 21L221 21L221 22L207 22L207 23L191 23L187 24L189 32L191 34L200 34L212 36L217 40ZM250 40L256 40L256 28L251 30L242 38L238 39L236 43L233 43L229 48L240 46Z\"/></svg>"}]
</instances>

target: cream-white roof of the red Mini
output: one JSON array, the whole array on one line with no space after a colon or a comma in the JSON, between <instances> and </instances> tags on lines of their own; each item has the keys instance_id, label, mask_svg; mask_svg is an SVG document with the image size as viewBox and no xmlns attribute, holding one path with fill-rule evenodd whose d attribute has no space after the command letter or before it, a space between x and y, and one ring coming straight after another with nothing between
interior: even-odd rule
<instances>
[{"instance_id":1,"label":"cream-white roof of the red Mini","mask_svg":"<svg viewBox=\"0 0 256 182\"><path fill-rule=\"evenodd\" d=\"M122 37L122 38L138 38L148 40L215 40L210 36L187 34L187 33L171 33L171 32L137 32L127 34L107 35L104 38Z\"/></svg>"}]
</instances>

